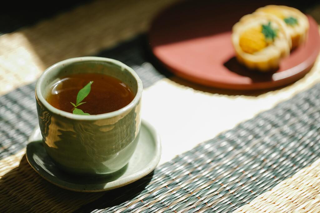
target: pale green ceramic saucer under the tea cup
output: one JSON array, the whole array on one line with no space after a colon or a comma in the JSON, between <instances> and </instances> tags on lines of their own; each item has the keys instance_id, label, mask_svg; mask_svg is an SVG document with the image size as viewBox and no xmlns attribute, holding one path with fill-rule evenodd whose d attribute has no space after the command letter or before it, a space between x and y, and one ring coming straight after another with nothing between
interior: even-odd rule
<instances>
[{"instance_id":1,"label":"pale green ceramic saucer under the tea cup","mask_svg":"<svg viewBox=\"0 0 320 213\"><path fill-rule=\"evenodd\" d=\"M129 163L121 170L103 176L82 177L68 174L52 162L43 145L40 129L31 134L26 157L44 179L61 188L78 192L99 192L130 184L153 171L159 163L161 144L154 127L142 121L140 139Z\"/></svg>"}]
</instances>

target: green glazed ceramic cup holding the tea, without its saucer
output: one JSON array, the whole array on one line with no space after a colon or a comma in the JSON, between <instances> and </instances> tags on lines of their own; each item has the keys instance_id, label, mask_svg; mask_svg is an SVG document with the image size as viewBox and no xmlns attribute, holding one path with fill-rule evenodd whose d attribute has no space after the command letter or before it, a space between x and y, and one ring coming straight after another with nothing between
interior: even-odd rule
<instances>
[{"instance_id":1,"label":"green glazed ceramic cup holding the tea, without its saucer","mask_svg":"<svg viewBox=\"0 0 320 213\"><path fill-rule=\"evenodd\" d=\"M76 115L51 106L50 87L65 75L102 73L128 85L135 97L119 110L100 115ZM127 65L103 57L61 61L44 71L36 83L36 106L44 148L61 169L74 174L108 174L129 161L141 124L142 82Z\"/></svg>"}]
</instances>

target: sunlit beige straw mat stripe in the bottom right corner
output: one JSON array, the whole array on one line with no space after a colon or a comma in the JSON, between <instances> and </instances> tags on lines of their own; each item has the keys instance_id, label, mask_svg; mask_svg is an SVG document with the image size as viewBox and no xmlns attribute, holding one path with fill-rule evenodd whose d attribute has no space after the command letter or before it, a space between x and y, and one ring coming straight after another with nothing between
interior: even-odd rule
<instances>
[{"instance_id":1,"label":"sunlit beige straw mat stripe in the bottom right corner","mask_svg":"<svg viewBox=\"0 0 320 213\"><path fill-rule=\"evenodd\" d=\"M320 159L236 212L320 212Z\"/></svg>"}]
</instances>

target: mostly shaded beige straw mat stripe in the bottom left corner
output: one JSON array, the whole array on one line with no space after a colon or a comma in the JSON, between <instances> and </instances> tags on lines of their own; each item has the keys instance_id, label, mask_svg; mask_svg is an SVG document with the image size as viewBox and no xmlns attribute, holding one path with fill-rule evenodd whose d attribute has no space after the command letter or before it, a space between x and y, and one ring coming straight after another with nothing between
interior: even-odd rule
<instances>
[{"instance_id":1,"label":"mostly shaded beige straw mat stripe in the bottom left corner","mask_svg":"<svg viewBox=\"0 0 320 213\"><path fill-rule=\"evenodd\" d=\"M44 181L35 175L24 153L1 161L0 169L5 166L11 171L0 173L0 212L73 212L103 195L66 191Z\"/></svg>"}]
</instances>

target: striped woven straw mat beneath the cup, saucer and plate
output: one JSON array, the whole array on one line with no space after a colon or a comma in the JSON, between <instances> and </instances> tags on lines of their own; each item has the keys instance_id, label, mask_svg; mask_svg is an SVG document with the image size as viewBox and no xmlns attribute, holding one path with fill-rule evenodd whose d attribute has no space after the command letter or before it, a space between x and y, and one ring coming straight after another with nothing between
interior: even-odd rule
<instances>
[{"instance_id":1,"label":"striped woven straw mat beneath the cup, saucer and plate","mask_svg":"<svg viewBox=\"0 0 320 213\"><path fill-rule=\"evenodd\" d=\"M319 58L305 77L276 90L188 82L152 57L146 39L152 18L174 2L90 1L0 29L1 212L320 211ZM320 23L319 4L305 11ZM37 125L36 79L58 61L92 55L138 73L142 117L159 132L162 156L135 183L76 193L33 171L25 147Z\"/></svg>"}]
</instances>

